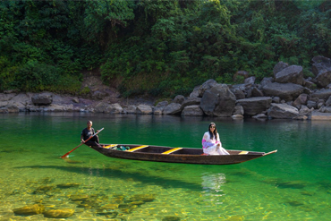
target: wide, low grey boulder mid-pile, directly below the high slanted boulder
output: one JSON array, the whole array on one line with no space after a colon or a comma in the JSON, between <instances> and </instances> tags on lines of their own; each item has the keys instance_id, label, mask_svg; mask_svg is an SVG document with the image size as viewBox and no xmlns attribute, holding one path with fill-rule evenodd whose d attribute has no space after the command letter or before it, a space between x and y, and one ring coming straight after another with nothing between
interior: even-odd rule
<instances>
[{"instance_id":1,"label":"wide, low grey boulder mid-pile, directly below the high slanted boulder","mask_svg":"<svg viewBox=\"0 0 331 221\"><path fill-rule=\"evenodd\" d=\"M279 97L286 101L291 101L298 98L303 92L304 88L299 84L293 83L268 83L263 88L265 96Z\"/></svg>"}]
</instances>

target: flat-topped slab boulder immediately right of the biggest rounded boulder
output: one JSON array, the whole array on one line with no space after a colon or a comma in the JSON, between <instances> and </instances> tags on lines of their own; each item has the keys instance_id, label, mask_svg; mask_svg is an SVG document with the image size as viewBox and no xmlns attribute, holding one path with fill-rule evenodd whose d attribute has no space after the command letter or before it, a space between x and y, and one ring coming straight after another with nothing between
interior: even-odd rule
<instances>
[{"instance_id":1,"label":"flat-topped slab boulder immediately right of the biggest rounded boulder","mask_svg":"<svg viewBox=\"0 0 331 221\"><path fill-rule=\"evenodd\" d=\"M258 115L266 111L271 104L270 97L245 98L236 101L236 105L243 107L244 115Z\"/></svg>"}]
</instances>

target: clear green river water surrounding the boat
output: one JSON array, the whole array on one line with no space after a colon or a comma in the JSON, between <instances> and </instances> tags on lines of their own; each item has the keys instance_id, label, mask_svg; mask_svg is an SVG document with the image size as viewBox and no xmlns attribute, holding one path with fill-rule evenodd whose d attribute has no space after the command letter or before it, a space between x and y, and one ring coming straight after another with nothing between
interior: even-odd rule
<instances>
[{"instance_id":1,"label":"clear green river water surrounding the boat","mask_svg":"<svg viewBox=\"0 0 331 221\"><path fill-rule=\"evenodd\" d=\"M43 214L13 213L34 204L47 210L74 209L66 220L329 220L331 216L329 122L72 113L0 115L0 119L0 220L52 220ZM86 146L72 152L71 162L60 159L80 144L87 120L95 129L105 128L99 134L105 143L200 148L208 123L215 122L225 149L278 152L230 166L116 159ZM67 183L76 186L59 187Z\"/></svg>"}]
</instances>

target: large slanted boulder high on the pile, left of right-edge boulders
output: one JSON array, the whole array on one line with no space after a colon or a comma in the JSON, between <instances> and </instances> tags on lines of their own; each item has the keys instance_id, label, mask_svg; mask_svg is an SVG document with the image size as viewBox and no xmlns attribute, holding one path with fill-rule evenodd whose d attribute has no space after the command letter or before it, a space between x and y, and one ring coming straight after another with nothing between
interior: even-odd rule
<instances>
[{"instance_id":1,"label":"large slanted boulder high on the pile, left of right-edge boulders","mask_svg":"<svg viewBox=\"0 0 331 221\"><path fill-rule=\"evenodd\" d=\"M295 83L303 84L302 67L298 65L291 65L284 68L282 71L275 74L275 81L278 83Z\"/></svg>"}]
</instances>

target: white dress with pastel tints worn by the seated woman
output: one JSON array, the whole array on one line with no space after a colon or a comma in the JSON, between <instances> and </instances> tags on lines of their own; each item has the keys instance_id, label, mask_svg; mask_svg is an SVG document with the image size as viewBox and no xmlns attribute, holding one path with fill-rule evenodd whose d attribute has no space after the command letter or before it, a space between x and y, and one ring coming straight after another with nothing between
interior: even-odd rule
<instances>
[{"instance_id":1,"label":"white dress with pastel tints worn by the seated woman","mask_svg":"<svg viewBox=\"0 0 331 221\"><path fill-rule=\"evenodd\" d=\"M217 146L217 144L219 144L219 146ZM216 140L215 137L210 139L209 132L205 132L202 137L202 148L203 152L208 155L230 155L224 148L222 148L218 133Z\"/></svg>"}]
</instances>

